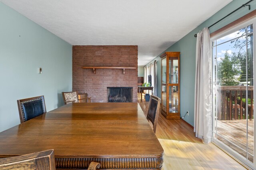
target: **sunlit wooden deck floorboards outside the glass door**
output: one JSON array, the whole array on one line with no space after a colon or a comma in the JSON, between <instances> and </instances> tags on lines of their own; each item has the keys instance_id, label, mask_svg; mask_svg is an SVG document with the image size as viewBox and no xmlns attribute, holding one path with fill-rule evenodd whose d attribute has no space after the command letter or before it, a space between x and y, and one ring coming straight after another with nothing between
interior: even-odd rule
<instances>
[{"instance_id":1,"label":"sunlit wooden deck floorboards outside the glass door","mask_svg":"<svg viewBox=\"0 0 256 170\"><path fill-rule=\"evenodd\" d=\"M248 152L253 154L254 145L254 120L248 121ZM236 150L246 158L246 120L218 120L217 122L217 139ZM237 147L237 146L238 147ZM252 155L248 159L252 162Z\"/></svg>"}]
</instances>

